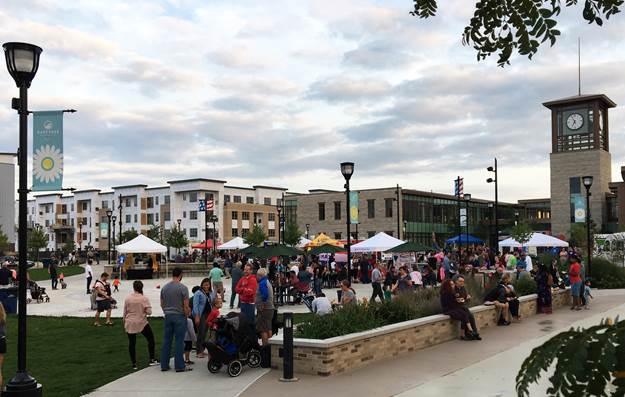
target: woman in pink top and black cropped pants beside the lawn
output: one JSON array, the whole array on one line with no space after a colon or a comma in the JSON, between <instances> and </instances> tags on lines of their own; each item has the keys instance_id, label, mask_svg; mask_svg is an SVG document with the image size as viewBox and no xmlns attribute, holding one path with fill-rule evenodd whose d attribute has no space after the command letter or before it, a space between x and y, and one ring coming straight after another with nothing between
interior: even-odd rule
<instances>
[{"instance_id":1,"label":"woman in pink top and black cropped pants beside the lawn","mask_svg":"<svg viewBox=\"0 0 625 397\"><path fill-rule=\"evenodd\" d=\"M124 329L128 334L128 352L132 369L137 369L137 334L142 334L148 340L149 365L158 365L154 358L154 333L148 323L148 316L152 314L152 306L147 297L143 296L143 283L136 280L132 284L134 292L124 301Z\"/></svg>"}]
</instances>

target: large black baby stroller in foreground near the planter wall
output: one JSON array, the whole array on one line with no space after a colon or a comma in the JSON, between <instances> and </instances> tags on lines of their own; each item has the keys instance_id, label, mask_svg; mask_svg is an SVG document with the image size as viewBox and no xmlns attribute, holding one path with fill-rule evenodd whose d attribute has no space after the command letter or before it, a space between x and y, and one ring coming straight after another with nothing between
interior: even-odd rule
<instances>
[{"instance_id":1,"label":"large black baby stroller in foreground near the planter wall","mask_svg":"<svg viewBox=\"0 0 625 397\"><path fill-rule=\"evenodd\" d=\"M208 370L217 373L226 364L228 375L241 375L243 366L257 368L261 363L258 338L244 314L228 313L217 319L214 342L204 344L210 359Z\"/></svg>"}]
</instances>

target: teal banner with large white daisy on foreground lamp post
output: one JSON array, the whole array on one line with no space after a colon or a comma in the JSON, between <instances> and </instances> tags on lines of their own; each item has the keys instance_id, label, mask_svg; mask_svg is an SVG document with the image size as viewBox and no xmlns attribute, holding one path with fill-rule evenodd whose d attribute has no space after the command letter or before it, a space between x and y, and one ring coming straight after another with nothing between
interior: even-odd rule
<instances>
[{"instance_id":1,"label":"teal banner with large white daisy on foreground lamp post","mask_svg":"<svg viewBox=\"0 0 625 397\"><path fill-rule=\"evenodd\" d=\"M63 111L33 112L34 192L63 187Z\"/></svg>"}]
</instances>

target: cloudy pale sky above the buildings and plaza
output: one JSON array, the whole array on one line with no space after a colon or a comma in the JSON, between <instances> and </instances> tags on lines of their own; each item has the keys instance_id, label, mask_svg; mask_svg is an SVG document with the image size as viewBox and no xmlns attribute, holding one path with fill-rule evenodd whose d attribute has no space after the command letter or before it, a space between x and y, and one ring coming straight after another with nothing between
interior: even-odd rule
<instances>
[{"instance_id":1,"label":"cloudy pale sky above the buildings and plaza","mask_svg":"<svg viewBox=\"0 0 625 397\"><path fill-rule=\"evenodd\" d=\"M550 116L541 103L582 91L625 102L625 16L562 36L534 60L478 63L461 44L472 2L411 0L2 0L0 37L44 49L32 110L65 118L65 185L163 185L176 178L341 189L388 187L492 197L549 196ZM17 147L17 90L5 73L0 151ZM611 110L614 180L625 163L625 114Z\"/></svg>"}]
</instances>

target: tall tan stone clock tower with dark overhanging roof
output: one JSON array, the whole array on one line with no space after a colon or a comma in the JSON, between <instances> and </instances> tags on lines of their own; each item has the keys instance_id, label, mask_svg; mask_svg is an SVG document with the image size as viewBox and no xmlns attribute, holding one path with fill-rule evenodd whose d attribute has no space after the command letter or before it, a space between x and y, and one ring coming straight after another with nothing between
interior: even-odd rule
<instances>
[{"instance_id":1,"label":"tall tan stone clock tower with dark overhanging roof","mask_svg":"<svg viewBox=\"0 0 625 397\"><path fill-rule=\"evenodd\" d=\"M543 103L551 110L551 231L569 236L573 223L586 221L583 176L592 176L590 216L601 231L606 223L612 156L607 96L577 95Z\"/></svg>"}]
</instances>

